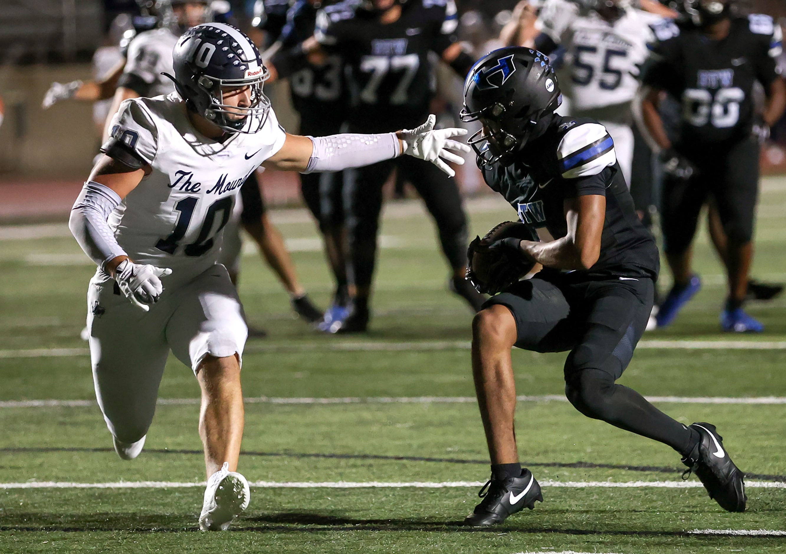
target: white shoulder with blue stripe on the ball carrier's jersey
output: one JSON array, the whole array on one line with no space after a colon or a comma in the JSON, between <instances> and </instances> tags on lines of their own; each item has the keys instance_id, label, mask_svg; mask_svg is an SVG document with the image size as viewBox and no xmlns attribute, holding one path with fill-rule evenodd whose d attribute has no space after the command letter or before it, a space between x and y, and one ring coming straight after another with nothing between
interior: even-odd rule
<instances>
[{"instance_id":1,"label":"white shoulder with blue stripe on the ball carrier's jersey","mask_svg":"<svg viewBox=\"0 0 786 554\"><path fill-rule=\"evenodd\" d=\"M568 130L556 157L566 179L597 175L617 161L612 136L601 123L583 123Z\"/></svg>"}]
</instances>

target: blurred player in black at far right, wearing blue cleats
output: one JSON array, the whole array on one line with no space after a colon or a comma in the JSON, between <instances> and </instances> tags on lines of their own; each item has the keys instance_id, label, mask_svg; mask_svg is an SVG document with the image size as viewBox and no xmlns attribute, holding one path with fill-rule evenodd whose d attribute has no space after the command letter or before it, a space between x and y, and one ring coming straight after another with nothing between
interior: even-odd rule
<instances>
[{"instance_id":1,"label":"blurred player in black at far right, wearing blue cleats","mask_svg":"<svg viewBox=\"0 0 786 554\"><path fill-rule=\"evenodd\" d=\"M721 312L724 331L761 332L742 308L753 251L758 197L759 140L784 112L786 85L775 71L781 31L772 17L733 17L730 0L684 0L685 21L664 21L643 81L641 112L661 149L662 228L674 288L660 306L658 325L669 325L700 289L692 272L691 244L701 207L711 199L725 231L722 259L729 295ZM767 105L755 118L753 85L762 83ZM658 113L666 91L683 105L680 137L672 143Z\"/></svg>"}]
</instances>

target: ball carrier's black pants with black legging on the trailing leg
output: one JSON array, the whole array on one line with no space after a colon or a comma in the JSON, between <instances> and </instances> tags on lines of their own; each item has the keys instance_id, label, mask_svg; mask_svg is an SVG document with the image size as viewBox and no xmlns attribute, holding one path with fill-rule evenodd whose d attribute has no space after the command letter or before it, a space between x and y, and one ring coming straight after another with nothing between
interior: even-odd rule
<instances>
[{"instance_id":1,"label":"ball carrier's black pants with black legging on the trailing leg","mask_svg":"<svg viewBox=\"0 0 786 554\"><path fill-rule=\"evenodd\" d=\"M538 277L539 275L539 277ZM585 416L653 438L683 456L691 432L616 384L645 331L654 284L647 277L578 281L545 271L487 300L506 306L516 320L516 347L535 352L570 350L564 365L565 395Z\"/></svg>"}]
</instances>

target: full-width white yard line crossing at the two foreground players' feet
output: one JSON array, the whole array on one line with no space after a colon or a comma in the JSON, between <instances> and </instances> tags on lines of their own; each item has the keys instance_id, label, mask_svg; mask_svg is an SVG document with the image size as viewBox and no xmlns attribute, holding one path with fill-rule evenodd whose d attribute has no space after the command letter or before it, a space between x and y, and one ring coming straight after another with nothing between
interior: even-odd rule
<instances>
[{"instance_id":1,"label":"full-width white yard line crossing at the two foreground players' feet","mask_svg":"<svg viewBox=\"0 0 786 554\"><path fill-rule=\"evenodd\" d=\"M254 481L249 486L259 489L459 489L483 486L483 481ZM205 486L205 482L170 481L117 481L117 482L61 482L27 481L0 482L0 489L183 489ZM699 481L542 481L540 486L553 486L570 489L698 489ZM786 482L749 481L745 486L752 489L784 489Z\"/></svg>"}]
</instances>

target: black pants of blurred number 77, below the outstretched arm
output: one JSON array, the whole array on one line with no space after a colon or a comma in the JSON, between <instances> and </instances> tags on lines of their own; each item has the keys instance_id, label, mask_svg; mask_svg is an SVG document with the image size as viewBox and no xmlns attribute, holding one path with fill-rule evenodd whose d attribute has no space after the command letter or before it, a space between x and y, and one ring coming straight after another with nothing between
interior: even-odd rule
<instances>
[{"instance_id":1,"label":"black pants of blurred number 77, below the outstretched arm","mask_svg":"<svg viewBox=\"0 0 786 554\"><path fill-rule=\"evenodd\" d=\"M394 167L412 183L439 229L439 243L450 267L467 264L467 218L454 179L433 163L401 156L344 171L344 212L347 215L351 281L368 288L376 262L376 234L382 208L382 186Z\"/></svg>"}]
</instances>

